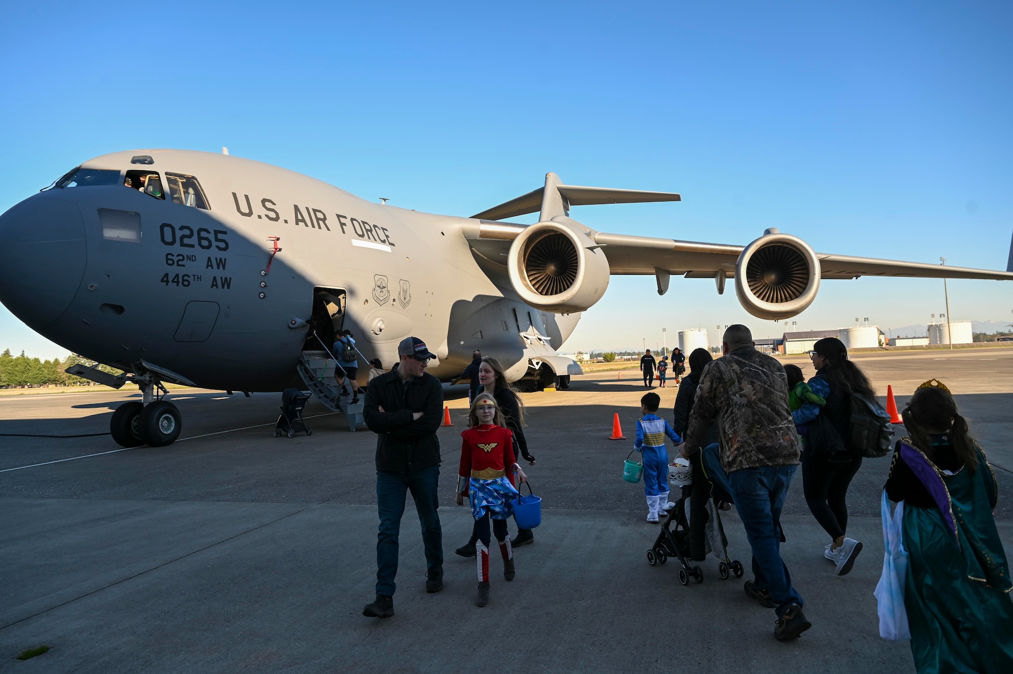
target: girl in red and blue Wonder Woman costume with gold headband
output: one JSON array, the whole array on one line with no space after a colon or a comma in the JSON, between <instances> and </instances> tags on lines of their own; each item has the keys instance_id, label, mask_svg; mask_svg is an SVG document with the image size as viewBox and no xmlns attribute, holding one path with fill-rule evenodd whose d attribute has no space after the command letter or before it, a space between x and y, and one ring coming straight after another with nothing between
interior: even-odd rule
<instances>
[{"instance_id":1,"label":"girl in red and blue Wonder Woman costume with gold headband","mask_svg":"<svg viewBox=\"0 0 1013 674\"><path fill-rule=\"evenodd\" d=\"M514 513L511 501L518 496L516 477L520 477L521 482L527 482L528 477L515 460L514 433L504 428L503 415L495 398L485 393L475 396L468 422L468 430L461 433L464 442L461 444L456 502L463 505L467 496L477 523L478 594L475 605L485 606L489 603L489 520L503 559L503 578L512 581L516 572L506 535L506 519Z\"/></svg>"}]
</instances>

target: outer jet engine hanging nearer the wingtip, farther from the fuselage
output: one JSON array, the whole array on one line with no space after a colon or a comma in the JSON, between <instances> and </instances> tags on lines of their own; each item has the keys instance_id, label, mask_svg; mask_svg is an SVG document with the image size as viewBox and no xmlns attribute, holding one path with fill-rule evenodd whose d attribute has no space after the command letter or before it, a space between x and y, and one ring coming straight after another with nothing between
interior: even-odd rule
<instances>
[{"instance_id":1,"label":"outer jet engine hanging nearer the wingtip, farther from the fuselage","mask_svg":"<svg viewBox=\"0 0 1013 674\"><path fill-rule=\"evenodd\" d=\"M812 248L775 229L747 246L735 262L735 294L757 318L777 321L801 314L819 289L820 259Z\"/></svg>"}]
</instances>

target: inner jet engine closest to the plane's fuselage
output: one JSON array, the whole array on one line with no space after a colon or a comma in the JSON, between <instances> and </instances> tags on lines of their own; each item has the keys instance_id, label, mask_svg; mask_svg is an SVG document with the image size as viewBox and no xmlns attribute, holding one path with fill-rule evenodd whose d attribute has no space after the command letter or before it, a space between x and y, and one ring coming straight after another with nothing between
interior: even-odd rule
<instances>
[{"instance_id":1,"label":"inner jet engine closest to the plane's fuselage","mask_svg":"<svg viewBox=\"0 0 1013 674\"><path fill-rule=\"evenodd\" d=\"M575 223L542 222L510 248L511 283L532 307L565 314L590 309L609 286L609 261Z\"/></svg>"}]
</instances>

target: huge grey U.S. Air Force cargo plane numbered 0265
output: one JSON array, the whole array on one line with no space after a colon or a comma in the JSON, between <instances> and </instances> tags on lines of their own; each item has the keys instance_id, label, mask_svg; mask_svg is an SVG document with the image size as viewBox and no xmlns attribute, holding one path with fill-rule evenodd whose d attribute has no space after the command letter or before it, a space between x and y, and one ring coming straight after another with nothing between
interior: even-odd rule
<instances>
[{"instance_id":1,"label":"huge grey U.S. Air Force cargo plane numbered 0265","mask_svg":"<svg viewBox=\"0 0 1013 674\"><path fill-rule=\"evenodd\" d=\"M805 310L825 278L1013 280L1005 272L816 253L769 229L746 245L596 232L570 208L678 201L680 195L543 187L471 218L374 203L248 159L182 150L96 157L0 217L0 301L50 340L124 370L68 371L137 384L110 431L123 446L162 446L182 427L163 383L243 392L308 387L354 429L362 403L332 387L335 331L389 364L408 335L426 340L445 382L474 349L511 382L566 388L580 367L556 354L611 274L732 279L762 319ZM534 225L503 222L540 214ZM330 369L328 369L328 367Z\"/></svg>"}]
</instances>

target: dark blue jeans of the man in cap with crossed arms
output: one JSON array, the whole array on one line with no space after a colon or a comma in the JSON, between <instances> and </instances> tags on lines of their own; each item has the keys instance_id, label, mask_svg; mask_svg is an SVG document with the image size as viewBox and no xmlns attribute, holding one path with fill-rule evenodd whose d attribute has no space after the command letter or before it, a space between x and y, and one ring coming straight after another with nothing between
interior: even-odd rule
<instances>
[{"instance_id":1,"label":"dark blue jeans of the man in cap with crossed arms","mask_svg":"<svg viewBox=\"0 0 1013 674\"><path fill-rule=\"evenodd\" d=\"M404 514L404 497L411 490L415 511L422 525L425 545L425 569L443 573L443 530L437 513L440 467L432 466L413 473L377 472L377 510L380 512L380 532L377 534L377 594L394 596L397 587L397 536Z\"/></svg>"}]
</instances>

